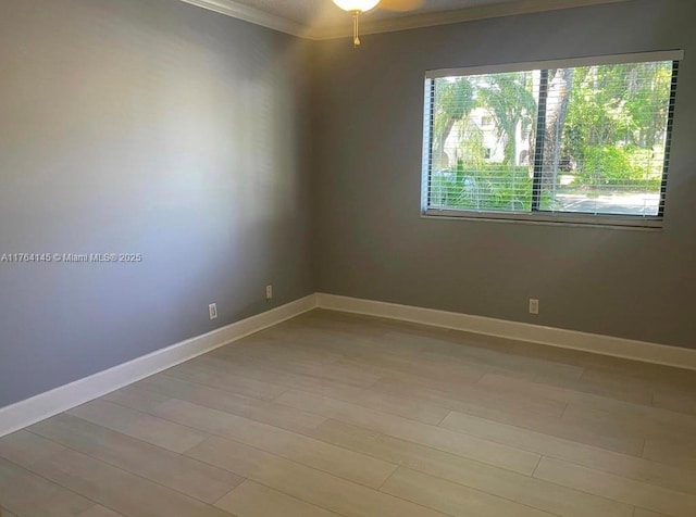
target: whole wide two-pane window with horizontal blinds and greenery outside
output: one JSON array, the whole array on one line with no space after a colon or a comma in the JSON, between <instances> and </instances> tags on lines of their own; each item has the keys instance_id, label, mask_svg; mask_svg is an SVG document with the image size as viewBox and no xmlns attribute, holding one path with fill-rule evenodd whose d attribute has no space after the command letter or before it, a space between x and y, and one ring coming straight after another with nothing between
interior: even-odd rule
<instances>
[{"instance_id":1,"label":"whole wide two-pane window with horizontal blinds and greenery outside","mask_svg":"<svg viewBox=\"0 0 696 517\"><path fill-rule=\"evenodd\" d=\"M682 54L428 72L424 213L660 226Z\"/></svg>"}]
</instances>

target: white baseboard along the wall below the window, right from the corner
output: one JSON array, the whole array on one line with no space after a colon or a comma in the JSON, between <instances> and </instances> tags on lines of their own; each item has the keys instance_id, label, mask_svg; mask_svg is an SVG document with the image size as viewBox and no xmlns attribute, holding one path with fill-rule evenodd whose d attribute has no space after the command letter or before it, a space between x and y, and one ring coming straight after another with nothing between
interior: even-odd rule
<instances>
[{"instance_id":1,"label":"white baseboard along the wall below the window, right from the corner","mask_svg":"<svg viewBox=\"0 0 696 517\"><path fill-rule=\"evenodd\" d=\"M316 304L321 308L400 319L696 370L696 350L679 346L336 294L316 293Z\"/></svg>"}]
</instances>

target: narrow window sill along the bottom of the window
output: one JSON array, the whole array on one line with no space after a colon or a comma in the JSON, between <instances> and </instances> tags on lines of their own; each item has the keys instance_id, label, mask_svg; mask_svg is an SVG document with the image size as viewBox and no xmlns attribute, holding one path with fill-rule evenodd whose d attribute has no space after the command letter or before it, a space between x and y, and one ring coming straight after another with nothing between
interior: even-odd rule
<instances>
[{"instance_id":1,"label":"narrow window sill along the bottom of the window","mask_svg":"<svg viewBox=\"0 0 696 517\"><path fill-rule=\"evenodd\" d=\"M518 223L526 225L581 226L593 228L611 228L622 230L662 229L662 217L656 216L621 216L621 215L585 215L559 213L524 213L524 212L475 212L463 210L428 209L422 214L427 219L462 219L487 223Z\"/></svg>"}]
</instances>

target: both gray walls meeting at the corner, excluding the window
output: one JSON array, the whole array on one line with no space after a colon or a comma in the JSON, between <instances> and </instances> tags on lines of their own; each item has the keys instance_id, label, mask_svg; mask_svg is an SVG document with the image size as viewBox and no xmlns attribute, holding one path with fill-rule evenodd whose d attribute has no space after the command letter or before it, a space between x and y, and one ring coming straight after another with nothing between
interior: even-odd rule
<instances>
[{"instance_id":1,"label":"both gray walls meeting at the corner, excluding the window","mask_svg":"<svg viewBox=\"0 0 696 517\"><path fill-rule=\"evenodd\" d=\"M356 51L178 0L0 0L0 254L144 255L0 263L0 406L314 290L695 346L695 17L641 0ZM671 48L662 231L420 217L426 68Z\"/></svg>"}]
</instances>

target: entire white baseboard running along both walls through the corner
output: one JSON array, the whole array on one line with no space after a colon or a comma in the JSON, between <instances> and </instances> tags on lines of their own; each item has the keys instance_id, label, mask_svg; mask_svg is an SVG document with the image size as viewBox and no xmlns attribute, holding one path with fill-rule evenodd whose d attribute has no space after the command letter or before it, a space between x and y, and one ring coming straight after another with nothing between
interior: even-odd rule
<instances>
[{"instance_id":1,"label":"entire white baseboard running along both walls through the corner","mask_svg":"<svg viewBox=\"0 0 696 517\"><path fill-rule=\"evenodd\" d=\"M312 308L330 308L696 370L696 350L396 303L315 293L0 408L0 437Z\"/></svg>"}]
</instances>

